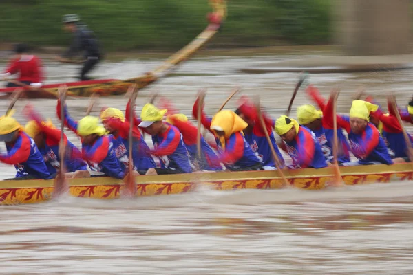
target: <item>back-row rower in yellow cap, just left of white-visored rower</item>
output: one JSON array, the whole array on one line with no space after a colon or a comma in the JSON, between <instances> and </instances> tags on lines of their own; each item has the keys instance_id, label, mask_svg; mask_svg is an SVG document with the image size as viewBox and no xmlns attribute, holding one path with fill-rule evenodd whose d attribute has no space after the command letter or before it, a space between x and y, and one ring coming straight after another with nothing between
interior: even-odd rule
<instances>
[{"instance_id":1,"label":"back-row rower in yellow cap, just left of white-visored rower","mask_svg":"<svg viewBox=\"0 0 413 275\"><path fill-rule=\"evenodd\" d=\"M129 166L129 121L125 122L123 112L116 108L107 108L100 113L100 120L103 126L113 135L114 151L119 162L127 168ZM132 152L134 170L140 174L146 173L149 168L155 168L156 164L151 155L145 153L149 151L140 131L133 129L133 148L138 148Z\"/></svg>"}]
</instances>

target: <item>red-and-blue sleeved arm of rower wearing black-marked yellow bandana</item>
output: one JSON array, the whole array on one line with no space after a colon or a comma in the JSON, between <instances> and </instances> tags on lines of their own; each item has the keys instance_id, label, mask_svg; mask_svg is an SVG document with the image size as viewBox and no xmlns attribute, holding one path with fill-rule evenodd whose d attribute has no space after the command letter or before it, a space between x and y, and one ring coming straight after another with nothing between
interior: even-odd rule
<instances>
[{"instance_id":1,"label":"red-and-blue sleeved arm of rower wearing black-marked yellow bandana","mask_svg":"<svg viewBox=\"0 0 413 275\"><path fill-rule=\"evenodd\" d=\"M315 140L309 131L299 131L297 135L297 164L301 168L308 168L314 159Z\"/></svg>"}]
</instances>

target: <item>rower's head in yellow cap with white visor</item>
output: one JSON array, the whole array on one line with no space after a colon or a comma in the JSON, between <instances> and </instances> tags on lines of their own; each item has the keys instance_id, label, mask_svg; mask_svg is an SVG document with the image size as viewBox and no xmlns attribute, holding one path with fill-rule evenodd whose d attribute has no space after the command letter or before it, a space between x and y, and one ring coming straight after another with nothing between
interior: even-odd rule
<instances>
[{"instance_id":1,"label":"rower's head in yellow cap with white visor","mask_svg":"<svg viewBox=\"0 0 413 275\"><path fill-rule=\"evenodd\" d=\"M142 122L138 126L145 128L149 135L158 135L165 130L166 124L162 122L162 118L167 111L167 109L158 109L151 103L145 104L142 112L140 112L140 120Z\"/></svg>"}]
</instances>

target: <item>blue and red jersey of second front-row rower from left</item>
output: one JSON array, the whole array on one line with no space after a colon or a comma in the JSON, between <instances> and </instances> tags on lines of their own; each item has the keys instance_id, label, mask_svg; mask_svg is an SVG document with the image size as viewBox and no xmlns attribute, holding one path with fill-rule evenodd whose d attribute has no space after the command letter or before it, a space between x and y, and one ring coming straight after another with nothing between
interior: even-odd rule
<instances>
[{"instance_id":1,"label":"blue and red jersey of second front-row rower from left","mask_svg":"<svg viewBox=\"0 0 413 275\"><path fill-rule=\"evenodd\" d=\"M60 100L57 106L57 113L60 118ZM77 133L77 122L73 120L67 107L65 107L65 125ZM72 157L79 157L75 155ZM81 157L86 160L92 170L105 173L109 177L123 179L125 177L125 168L120 164L114 152L114 142L112 135L102 135L98 137L93 144L82 142Z\"/></svg>"}]
</instances>

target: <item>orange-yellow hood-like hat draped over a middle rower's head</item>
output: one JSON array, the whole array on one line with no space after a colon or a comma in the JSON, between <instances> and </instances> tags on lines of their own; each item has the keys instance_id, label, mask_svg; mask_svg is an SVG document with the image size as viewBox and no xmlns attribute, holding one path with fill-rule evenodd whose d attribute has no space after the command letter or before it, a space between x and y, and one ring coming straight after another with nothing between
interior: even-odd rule
<instances>
[{"instance_id":1,"label":"orange-yellow hood-like hat draped over a middle rower's head","mask_svg":"<svg viewBox=\"0 0 413 275\"><path fill-rule=\"evenodd\" d=\"M222 131L225 133L224 137L220 137L222 148L225 148L226 139L233 133L246 129L247 126L248 124L231 110L219 111L213 116L211 121L211 130L214 134L215 131Z\"/></svg>"}]
</instances>

